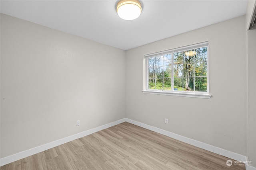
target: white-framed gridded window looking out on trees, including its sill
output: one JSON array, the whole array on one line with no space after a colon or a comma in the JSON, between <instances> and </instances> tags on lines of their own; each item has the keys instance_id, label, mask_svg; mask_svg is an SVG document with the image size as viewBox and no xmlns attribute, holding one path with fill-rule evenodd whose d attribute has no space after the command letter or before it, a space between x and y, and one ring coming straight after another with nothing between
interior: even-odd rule
<instances>
[{"instance_id":1,"label":"white-framed gridded window looking out on trees, including its sill","mask_svg":"<svg viewBox=\"0 0 256 170\"><path fill-rule=\"evenodd\" d=\"M144 93L210 98L208 42L145 55Z\"/></svg>"}]
</instances>

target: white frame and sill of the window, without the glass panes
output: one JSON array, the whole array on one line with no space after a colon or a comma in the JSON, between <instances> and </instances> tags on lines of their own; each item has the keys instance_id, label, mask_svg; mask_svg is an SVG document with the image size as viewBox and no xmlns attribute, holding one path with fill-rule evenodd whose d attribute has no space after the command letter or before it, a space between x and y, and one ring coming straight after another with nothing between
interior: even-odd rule
<instances>
[{"instance_id":1,"label":"white frame and sill of the window, without the glass panes","mask_svg":"<svg viewBox=\"0 0 256 170\"><path fill-rule=\"evenodd\" d=\"M157 57L166 54L172 54L172 63L173 63L173 53L188 51L192 49L197 49L201 47L207 47L207 92L197 92L197 91L176 91L173 89L173 64L172 64L172 90L154 90L148 88L148 58ZM144 94L160 94L160 95L170 95L170 96L183 96L183 97L192 97L192 98L207 98L210 99L212 95L209 93L209 43L203 42L194 45L188 45L185 47L180 47L176 49L170 49L166 51L160 51L157 53L151 53L144 56L144 80L143 80L143 90Z\"/></svg>"}]
</instances>

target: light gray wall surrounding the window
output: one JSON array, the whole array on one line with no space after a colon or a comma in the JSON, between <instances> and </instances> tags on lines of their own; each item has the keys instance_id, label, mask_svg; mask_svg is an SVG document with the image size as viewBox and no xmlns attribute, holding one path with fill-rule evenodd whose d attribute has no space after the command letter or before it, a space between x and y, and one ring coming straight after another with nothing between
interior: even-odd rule
<instances>
[{"instance_id":1,"label":"light gray wall surrounding the window","mask_svg":"<svg viewBox=\"0 0 256 170\"><path fill-rule=\"evenodd\" d=\"M244 25L242 16L128 50L126 117L246 155ZM204 41L209 41L211 99L142 94L144 55Z\"/></svg>"}]
</instances>

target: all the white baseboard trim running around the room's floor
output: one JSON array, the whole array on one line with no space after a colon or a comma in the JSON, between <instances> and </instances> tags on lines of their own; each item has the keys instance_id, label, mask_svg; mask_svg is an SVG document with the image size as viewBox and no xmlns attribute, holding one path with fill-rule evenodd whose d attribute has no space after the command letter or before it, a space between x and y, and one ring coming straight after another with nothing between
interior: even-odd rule
<instances>
[{"instance_id":1,"label":"all the white baseboard trim running around the room's floor","mask_svg":"<svg viewBox=\"0 0 256 170\"><path fill-rule=\"evenodd\" d=\"M228 150L221 149L221 148L218 148L218 147L214 147L212 145L208 145L206 143L202 143L202 142L196 141L194 139L190 139L190 138L187 138L187 137L184 137L184 136L181 136L181 135L177 135L175 133L172 133L172 132L169 132L169 131L165 131L163 129L159 129L157 127L146 125L144 123L140 123L140 122L134 121L132 119L124 118L124 119L120 119L118 121L114 121L114 122L108 123L106 125L102 125L102 126L99 126L99 127L93 128L93 129L89 129L87 131L84 131L84 132L81 132L81 133L78 133L78 134L75 134L75 135L63 138L63 139L59 139L57 141L53 141L51 143L47 143L45 145L41 145L39 147L35 147L35 148L29 149L29 150L25 150L23 152L19 152L17 154L13 154L13 155L1 158L0 159L0 166L3 166L5 164L9 164L11 162L14 162L16 160L20 160L22 158L26 158L27 156L31 156L33 154L42 152L44 150L51 149L53 147L62 145L64 143L73 141L75 139L78 139L78 138L90 135L92 133L95 133L97 131L101 131L101 130L106 129L108 127L112 127L114 125L118 125L119 123L123 123L125 121L127 121L129 123L132 123L134 125L138 125L140 127L143 127L145 129L148 129L148 130L160 133L162 135L166 135L166 136L171 137L173 139L177 139L177 140L182 141L184 143L188 143L190 145L193 145L193 146L205 149L205 150L209 150L209 151L214 152L216 154L220 154L222 156L226 156L228 158L232 158L234 160L238 160L238 161L241 161L241 162L246 162L247 161L247 158L244 155L237 154L237 153L234 153L234 152L230 152ZM254 168L252 166L249 166L249 165L246 165L246 170L256 170L256 168Z\"/></svg>"}]
</instances>

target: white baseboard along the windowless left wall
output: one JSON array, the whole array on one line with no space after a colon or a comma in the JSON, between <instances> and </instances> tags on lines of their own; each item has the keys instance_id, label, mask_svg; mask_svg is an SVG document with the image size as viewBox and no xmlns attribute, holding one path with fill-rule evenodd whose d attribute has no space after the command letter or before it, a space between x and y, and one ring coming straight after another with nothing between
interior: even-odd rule
<instances>
[{"instance_id":1,"label":"white baseboard along the windowless left wall","mask_svg":"<svg viewBox=\"0 0 256 170\"><path fill-rule=\"evenodd\" d=\"M112 127L114 125L118 125L118 124L123 123L123 122L125 122L125 119L120 119L118 121L114 121L114 122L108 123L106 125L102 125L102 126L99 126L99 127L93 128L93 129L89 129L87 131L77 133L75 135L65 137L63 139L59 139L57 141L53 141L53 142L47 143L45 145L41 145L39 147L35 147L35 148L32 148L32 149L25 150L23 152L19 152L17 154L6 156L6 157L0 159L0 166L9 164L11 162L14 162L16 160L20 160L22 158L26 158L28 156L31 156L33 154L37 154L37 153L42 152L44 150L51 149L53 147L57 147L57 146L62 145L64 143L67 143L67 142L73 141L75 139L90 135L92 133L101 131L101 130L106 129L108 127Z\"/></svg>"}]
</instances>

